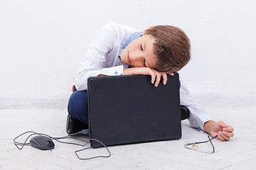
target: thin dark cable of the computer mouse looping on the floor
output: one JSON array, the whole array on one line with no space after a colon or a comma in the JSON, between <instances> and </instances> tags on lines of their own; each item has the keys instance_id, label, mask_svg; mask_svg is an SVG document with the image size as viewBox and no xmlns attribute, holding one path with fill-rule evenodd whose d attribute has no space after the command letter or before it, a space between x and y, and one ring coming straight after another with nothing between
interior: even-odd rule
<instances>
[{"instance_id":1,"label":"thin dark cable of the computer mouse looping on the floor","mask_svg":"<svg viewBox=\"0 0 256 170\"><path fill-rule=\"evenodd\" d=\"M82 132L82 131L81 131ZM66 135L64 137L51 137L50 135L47 135L47 134L44 134L44 133L38 133L38 132L34 132L34 131L27 131L27 132L23 132L21 135L18 135L17 137L14 138L14 145L18 148L18 149L23 149L23 147L25 145L31 145L30 142L27 142L29 137L33 136L33 135L45 135L47 137L49 137L51 140L56 140L57 142L60 142L60 143L64 143L64 144L69 144L69 145L78 145L78 146L82 146L82 147L85 147L85 145L87 145L88 142L90 142L91 140L95 140L96 142L99 142L103 147L105 147L105 149L107 149L107 152L109 153L107 156L97 156L97 157L88 157L88 158L80 158L79 155L78 155L78 152L81 152L85 149L90 149L92 147L86 147L86 148L83 148L83 149L79 149L79 150L76 150L75 151L75 155L78 157L78 159L81 159L81 160L87 160L87 159L95 159L95 158L99 158L99 157L110 157L111 156L111 153L110 153L110 150L107 148L107 146L100 142L100 140L96 140L96 139L89 139L89 140L81 140L77 137L70 137L71 135L78 135L80 134L81 132L77 132L77 133L73 133L73 134L70 134L70 135ZM16 140L18 139L18 137L21 137L22 135L25 135L27 133L32 133L31 135L28 135L28 137L26 138L26 140L21 143L21 142L17 142ZM81 145L81 144L78 144L78 143L74 143L74 142L63 142L63 141L60 141L60 140L64 140L64 139L74 139L74 140L79 140L79 141L82 141L82 142L85 142L85 145ZM21 147L18 147L20 146ZM50 148L46 148L46 149L49 149L51 151Z\"/></svg>"}]
</instances>

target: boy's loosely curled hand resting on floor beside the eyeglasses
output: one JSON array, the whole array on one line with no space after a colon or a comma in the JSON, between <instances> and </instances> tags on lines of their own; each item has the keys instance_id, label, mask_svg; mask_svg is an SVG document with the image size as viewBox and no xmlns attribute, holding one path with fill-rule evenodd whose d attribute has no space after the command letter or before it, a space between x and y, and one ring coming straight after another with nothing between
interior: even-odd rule
<instances>
[{"instance_id":1,"label":"boy's loosely curled hand resting on floor beside the eyeglasses","mask_svg":"<svg viewBox=\"0 0 256 170\"><path fill-rule=\"evenodd\" d=\"M210 133L211 136L218 135L218 140L230 140L230 137L234 136L234 128L231 125L223 123L223 121L215 122L210 120L203 125L206 132Z\"/></svg>"}]
</instances>

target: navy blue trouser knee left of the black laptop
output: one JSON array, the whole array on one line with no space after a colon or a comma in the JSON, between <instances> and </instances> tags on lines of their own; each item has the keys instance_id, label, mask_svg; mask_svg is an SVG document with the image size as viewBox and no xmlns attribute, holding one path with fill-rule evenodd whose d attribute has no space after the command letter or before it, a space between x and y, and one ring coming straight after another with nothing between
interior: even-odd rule
<instances>
[{"instance_id":1,"label":"navy blue trouser knee left of the black laptop","mask_svg":"<svg viewBox=\"0 0 256 170\"><path fill-rule=\"evenodd\" d=\"M70 96L68 101L68 114L88 125L88 94L87 91L77 91Z\"/></svg>"}]
</instances>

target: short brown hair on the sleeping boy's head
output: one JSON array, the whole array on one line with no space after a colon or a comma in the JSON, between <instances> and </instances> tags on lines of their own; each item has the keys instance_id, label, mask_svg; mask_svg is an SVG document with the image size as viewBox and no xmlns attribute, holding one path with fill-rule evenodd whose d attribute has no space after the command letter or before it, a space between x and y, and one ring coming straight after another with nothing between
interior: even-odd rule
<instances>
[{"instance_id":1,"label":"short brown hair on the sleeping boy's head","mask_svg":"<svg viewBox=\"0 0 256 170\"><path fill-rule=\"evenodd\" d=\"M146 30L152 35L154 53L158 57L156 70L178 72L191 59L191 43L186 33L174 26L154 26Z\"/></svg>"}]
</instances>

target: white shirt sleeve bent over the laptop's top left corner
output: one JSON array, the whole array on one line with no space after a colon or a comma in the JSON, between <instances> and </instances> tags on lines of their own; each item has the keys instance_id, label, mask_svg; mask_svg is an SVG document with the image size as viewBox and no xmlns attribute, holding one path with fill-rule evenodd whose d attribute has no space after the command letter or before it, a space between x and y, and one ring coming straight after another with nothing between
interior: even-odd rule
<instances>
[{"instance_id":1,"label":"white shirt sleeve bent over the laptop's top left corner","mask_svg":"<svg viewBox=\"0 0 256 170\"><path fill-rule=\"evenodd\" d=\"M123 74L123 65L102 68L103 63L106 62L107 54L113 49L117 39L117 33L112 29L114 24L109 23L104 26L85 52L85 57L81 60L75 75L75 88L78 91L87 90L88 77L95 77L99 74L109 76Z\"/></svg>"}]
</instances>

